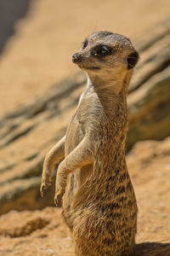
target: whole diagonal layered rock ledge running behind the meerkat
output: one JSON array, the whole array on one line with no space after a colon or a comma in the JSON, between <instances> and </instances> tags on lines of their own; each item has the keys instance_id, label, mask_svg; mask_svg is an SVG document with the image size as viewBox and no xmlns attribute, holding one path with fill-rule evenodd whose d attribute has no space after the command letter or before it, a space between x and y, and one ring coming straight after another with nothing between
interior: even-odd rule
<instances>
[{"instance_id":1,"label":"whole diagonal layered rock ledge running behind the meerkat","mask_svg":"<svg viewBox=\"0 0 170 256\"><path fill-rule=\"evenodd\" d=\"M169 30L165 21L142 42L136 39L141 57L129 88L127 151L140 140L170 135ZM39 195L42 161L65 134L85 84L85 74L77 73L0 119L0 213L54 204L54 186L45 198Z\"/></svg>"}]
</instances>

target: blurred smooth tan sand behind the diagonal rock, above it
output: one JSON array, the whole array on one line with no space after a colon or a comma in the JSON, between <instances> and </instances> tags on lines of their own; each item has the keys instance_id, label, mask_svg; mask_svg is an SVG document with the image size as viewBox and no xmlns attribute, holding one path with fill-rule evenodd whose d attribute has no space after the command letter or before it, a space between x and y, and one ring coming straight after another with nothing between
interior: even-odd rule
<instances>
[{"instance_id":1,"label":"blurred smooth tan sand behind the diagonal rock, above it","mask_svg":"<svg viewBox=\"0 0 170 256\"><path fill-rule=\"evenodd\" d=\"M0 116L77 72L71 55L89 33L105 29L142 39L169 7L169 0L32 1L0 57Z\"/></svg>"}]
</instances>

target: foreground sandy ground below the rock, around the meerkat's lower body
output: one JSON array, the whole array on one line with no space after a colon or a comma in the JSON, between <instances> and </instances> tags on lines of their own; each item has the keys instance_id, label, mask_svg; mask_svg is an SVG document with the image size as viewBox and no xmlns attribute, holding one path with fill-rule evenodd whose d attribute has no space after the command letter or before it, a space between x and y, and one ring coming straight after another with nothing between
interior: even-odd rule
<instances>
[{"instance_id":1,"label":"foreground sandy ground below the rock, around the meerkat's lower body","mask_svg":"<svg viewBox=\"0 0 170 256\"><path fill-rule=\"evenodd\" d=\"M147 150L146 150L147 149ZM138 256L170 255L170 137L164 142L137 143L127 155L127 166L136 192L139 220L138 244L164 243L168 251ZM147 250L147 247L145 250ZM145 251L144 251L145 252ZM47 207L42 211L11 211L0 217L1 256L71 256L74 247L60 210Z\"/></svg>"}]
</instances>

